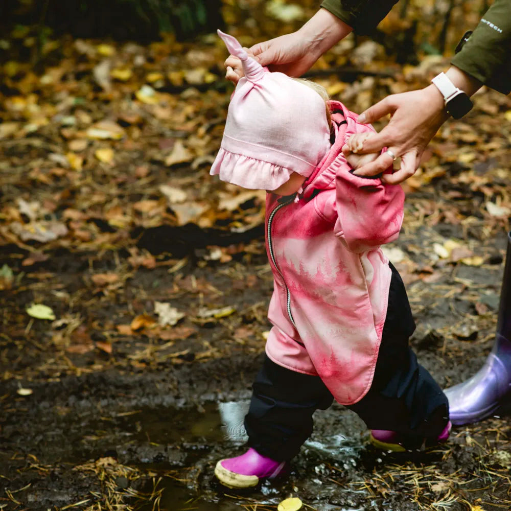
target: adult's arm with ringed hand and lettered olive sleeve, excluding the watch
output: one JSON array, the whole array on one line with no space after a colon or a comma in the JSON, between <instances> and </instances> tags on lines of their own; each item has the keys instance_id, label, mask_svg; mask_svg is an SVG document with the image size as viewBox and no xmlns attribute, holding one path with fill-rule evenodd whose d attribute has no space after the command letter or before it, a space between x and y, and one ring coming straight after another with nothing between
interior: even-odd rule
<instances>
[{"instance_id":1,"label":"adult's arm with ringed hand and lettered olive sleeve, excluding the watch","mask_svg":"<svg viewBox=\"0 0 511 511\"><path fill-rule=\"evenodd\" d=\"M496 0L479 25L452 59L446 72L451 81L472 96L485 84L504 94L511 89L511 2ZM363 112L359 120L372 123L390 114L383 130L364 143L360 153L380 151L387 146L401 156L401 168L384 175L387 183L398 183L413 175L421 155L438 128L449 118L442 95L434 85L391 95ZM347 148L343 148L349 154ZM392 157L383 153L375 161L357 169L359 175L376 175L386 169Z\"/></svg>"}]
</instances>

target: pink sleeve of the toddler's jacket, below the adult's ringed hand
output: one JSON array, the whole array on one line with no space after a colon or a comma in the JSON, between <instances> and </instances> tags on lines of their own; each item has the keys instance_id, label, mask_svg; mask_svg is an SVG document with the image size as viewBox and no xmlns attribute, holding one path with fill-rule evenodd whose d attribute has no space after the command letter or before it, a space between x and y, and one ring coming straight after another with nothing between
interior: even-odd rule
<instances>
[{"instance_id":1,"label":"pink sleeve of the toddler's jacket, below the adult's ringed hand","mask_svg":"<svg viewBox=\"0 0 511 511\"><path fill-rule=\"evenodd\" d=\"M379 178L360 177L345 164L336 173L334 233L352 252L397 239L403 222L404 192Z\"/></svg>"}]
</instances>

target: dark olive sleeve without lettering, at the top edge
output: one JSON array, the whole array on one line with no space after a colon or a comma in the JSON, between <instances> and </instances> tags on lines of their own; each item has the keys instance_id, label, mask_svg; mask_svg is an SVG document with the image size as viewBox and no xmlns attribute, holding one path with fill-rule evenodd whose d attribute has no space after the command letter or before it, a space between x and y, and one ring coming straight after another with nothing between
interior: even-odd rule
<instances>
[{"instance_id":1,"label":"dark olive sleeve without lettering, at the top edge","mask_svg":"<svg viewBox=\"0 0 511 511\"><path fill-rule=\"evenodd\" d=\"M342 19L356 34L373 32L398 0L323 0L321 7Z\"/></svg>"}]
</instances>

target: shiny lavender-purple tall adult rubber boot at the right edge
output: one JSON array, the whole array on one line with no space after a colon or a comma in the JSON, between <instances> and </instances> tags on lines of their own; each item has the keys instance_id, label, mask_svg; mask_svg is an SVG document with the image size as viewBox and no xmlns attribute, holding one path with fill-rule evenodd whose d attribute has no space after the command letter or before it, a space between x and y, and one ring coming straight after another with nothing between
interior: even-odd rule
<instances>
[{"instance_id":1,"label":"shiny lavender-purple tall adult rubber boot at the right edge","mask_svg":"<svg viewBox=\"0 0 511 511\"><path fill-rule=\"evenodd\" d=\"M472 378L445 390L451 422L462 425L485 419L511 397L510 389L511 233L508 233L495 344L484 365Z\"/></svg>"}]
</instances>

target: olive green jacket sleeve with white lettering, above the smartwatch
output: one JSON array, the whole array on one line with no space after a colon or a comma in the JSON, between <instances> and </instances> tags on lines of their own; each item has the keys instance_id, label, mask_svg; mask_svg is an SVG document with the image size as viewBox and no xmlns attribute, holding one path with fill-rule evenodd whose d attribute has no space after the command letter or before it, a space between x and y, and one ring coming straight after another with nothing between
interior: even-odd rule
<instances>
[{"instance_id":1,"label":"olive green jacket sleeve with white lettering, above the smartwatch","mask_svg":"<svg viewBox=\"0 0 511 511\"><path fill-rule=\"evenodd\" d=\"M511 2L495 0L451 63L492 89L511 90Z\"/></svg>"}]
</instances>

